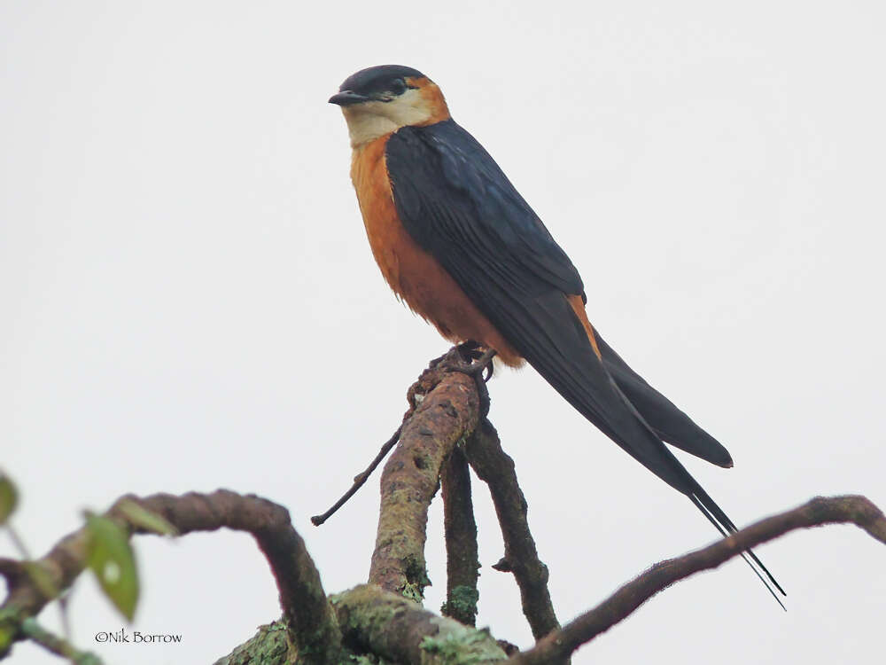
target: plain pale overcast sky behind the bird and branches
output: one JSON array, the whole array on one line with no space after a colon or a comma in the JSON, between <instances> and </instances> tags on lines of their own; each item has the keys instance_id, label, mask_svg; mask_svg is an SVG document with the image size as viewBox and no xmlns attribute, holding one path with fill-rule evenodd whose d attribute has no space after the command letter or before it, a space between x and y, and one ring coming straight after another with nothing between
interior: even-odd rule
<instances>
[{"instance_id":1,"label":"plain pale overcast sky behind the bird and branches","mask_svg":"<svg viewBox=\"0 0 886 665\"><path fill-rule=\"evenodd\" d=\"M439 8L438 8L439 7ZM447 344L372 261L338 108L414 66L571 256L591 320L727 445L683 456L739 525L816 495L886 507L886 10L878 2L0 2L0 464L35 554L128 491L286 505L327 591L364 582L377 476L314 528ZM562 622L715 533L532 370L491 418ZM532 642L475 483L480 625ZM439 608L439 500L427 555ZM279 613L247 536L136 541L130 630L84 577L74 641L108 663L208 663ZM653 599L573 660L880 662L886 550L857 528ZM14 555L0 534L0 556ZM58 628L57 612L43 622ZM33 645L16 663L58 662Z\"/></svg>"}]
</instances>

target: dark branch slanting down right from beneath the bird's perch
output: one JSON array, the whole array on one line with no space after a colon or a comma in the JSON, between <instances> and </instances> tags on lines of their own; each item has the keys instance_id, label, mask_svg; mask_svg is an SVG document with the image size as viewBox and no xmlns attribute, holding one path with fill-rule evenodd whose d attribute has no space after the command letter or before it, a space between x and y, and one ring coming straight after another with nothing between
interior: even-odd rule
<instances>
[{"instance_id":1,"label":"dark branch slanting down right from beneath the bird's perch","mask_svg":"<svg viewBox=\"0 0 886 665\"><path fill-rule=\"evenodd\" d=\"M511 571L520 588L523 614L540 639L560 627L548 592L548 567L539 559L526 518L526 499L517 483L514 460L501 450L498 433L484 419L465 444L470 465L489 486L504 539L504 559L496 569Z\"/></svg>"}]
</instances>

